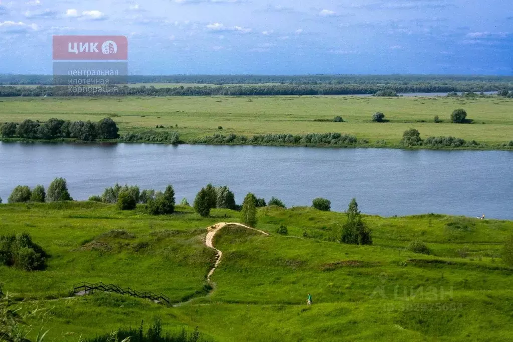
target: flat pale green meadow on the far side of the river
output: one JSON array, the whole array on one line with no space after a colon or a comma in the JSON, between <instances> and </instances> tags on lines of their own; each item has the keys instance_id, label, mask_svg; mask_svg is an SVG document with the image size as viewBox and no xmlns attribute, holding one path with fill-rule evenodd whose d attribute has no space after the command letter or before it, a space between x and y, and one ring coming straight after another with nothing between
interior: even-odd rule
<instances>
[{"instance_id":1,"label":"flat pale green meadow on the far side of the river","mask_svg":"<svg viewBox=\"0 0 513 342\"><path fill-rule=\"evenodd\" d=\"M450 124L454 109L464 108L471 125ZM386 140L397 147L403 132L420 131L421 137L455 136L497 145L513 139L513 99L452 97L358 97L358 96L268 96L268 97L63 97L3 98L0 122L26 118L47 120L100 120L114 117L121 131L164 126L182 140L222 134L340 132L369 139ZM372 123L382 111L388 123ZM346 123L315 122L340 115ZM444 120L433 123L438 115ZM424 120L425 122L421 122ZM483 124L484 123L484 124ZM176 127L176 125L178 125ZM170 128L172 126L173 128ZM223 130L219 130L222 126Z\"/></svg>"}]
</instances>

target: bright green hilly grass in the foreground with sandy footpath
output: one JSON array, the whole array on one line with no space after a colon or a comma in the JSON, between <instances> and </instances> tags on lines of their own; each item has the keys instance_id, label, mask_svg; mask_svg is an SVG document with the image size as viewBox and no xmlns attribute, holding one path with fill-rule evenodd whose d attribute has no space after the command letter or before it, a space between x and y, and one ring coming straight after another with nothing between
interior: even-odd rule
<instances>
[{"instance_id":1,"label":"bright green hilly grass in the foreground with sandy footpath","mask_svg":"<svg viewBox=\"0 0 513 342\"><path fill-rule=\"evenodd\" d=\"M328 240L343 214L265 207L256 227L271 236L242 228L216 235L223 259L207 297L176 308L109 294L59 299L81 281L173 301L201 291L214 260L205 227L236 222L239 213L201 218L177 209L155 217L91 202L0 205L0 234L29 232L51 255L45 271L0 266L4 289L38 300L25 308L48 308L48 340L76 341L154 316L165 329L198 326L220 341L506 341L513 334L513 270L499 257L513 222L445 215L365 216L374 244L351 246ZM280 224L288 235L275 234ZM414 239L432 253L408 251Z\"/></svg>"}]
</instances>

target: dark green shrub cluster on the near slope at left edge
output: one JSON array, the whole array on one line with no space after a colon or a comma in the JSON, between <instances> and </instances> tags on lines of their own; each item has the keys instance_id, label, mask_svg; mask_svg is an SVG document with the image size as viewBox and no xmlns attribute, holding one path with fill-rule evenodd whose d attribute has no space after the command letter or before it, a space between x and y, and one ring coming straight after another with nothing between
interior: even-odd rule
<instances>
[{"instance_id":1,"label":"dark green shrub cluster on the near slope at left edge","mask_svg":"<svg viewBox=\"0 0 513 342\"><path fill-rule=\"evenodd\" d=\"M46 256L45 251L32 242L29 234L0 236L0 265L25 271L42 270L46 267Z\"/></svg>"}]
</instances>

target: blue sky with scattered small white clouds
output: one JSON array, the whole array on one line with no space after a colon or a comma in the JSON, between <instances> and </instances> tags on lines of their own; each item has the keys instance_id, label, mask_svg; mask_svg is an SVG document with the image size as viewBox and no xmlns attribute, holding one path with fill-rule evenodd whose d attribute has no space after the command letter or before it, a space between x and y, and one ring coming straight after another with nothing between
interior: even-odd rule
<instances>
[{"instance_id":1,"label":"blue sky with scattered small white clouds","mask_svg":"<svg viewBox=\"0 0 513 342\"><path fill-rule=\"evenodd\" d=\"M131 74L511 75L513 3L0 0L0 73L51 73L54 34L126 35Z\"/></svg>"}]
</instances>

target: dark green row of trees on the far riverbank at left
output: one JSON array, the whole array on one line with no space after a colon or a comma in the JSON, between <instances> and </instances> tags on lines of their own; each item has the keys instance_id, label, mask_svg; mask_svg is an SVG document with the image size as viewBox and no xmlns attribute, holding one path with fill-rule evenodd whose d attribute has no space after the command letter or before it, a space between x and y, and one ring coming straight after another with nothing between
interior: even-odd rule
<instances>
[{"instance_id":1,"label":"dark green row of trees on the far riverbank at left","mask_svg":"<svg viewBox=\"0 0 513 342\"><path fill-rule=\"evenodd\" d=\"M26 119L22 123L8 122L2 125L0 133L4 138L45 139L76 138L84 141L116 139L119 137L116 123L109 117L100 122L68 121L51 118L47 122Z\"/></svg>"}]
</instances>

